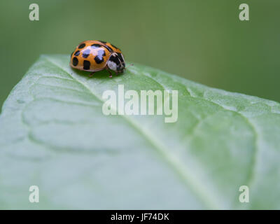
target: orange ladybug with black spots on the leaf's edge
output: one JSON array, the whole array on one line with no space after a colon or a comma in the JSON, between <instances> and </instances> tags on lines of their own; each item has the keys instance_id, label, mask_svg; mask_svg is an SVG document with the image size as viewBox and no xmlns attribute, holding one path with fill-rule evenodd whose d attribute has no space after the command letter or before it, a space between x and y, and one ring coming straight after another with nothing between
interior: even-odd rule
<instances>
[{"instance_id":1,"label":"orange ladybug with black spots on the leaf's edge","mask_svg":"<svg viewBox=\"0 0 280 224\"><path fill-rule=\"evenodd\" d=\"M112 78L113 70L123 73L125 69L125 59L119 48L105 41L83 41L71 54L70 66L74 69L92 71L90 76L96 71L106 69Z\"/></svg>"}]
</instances>

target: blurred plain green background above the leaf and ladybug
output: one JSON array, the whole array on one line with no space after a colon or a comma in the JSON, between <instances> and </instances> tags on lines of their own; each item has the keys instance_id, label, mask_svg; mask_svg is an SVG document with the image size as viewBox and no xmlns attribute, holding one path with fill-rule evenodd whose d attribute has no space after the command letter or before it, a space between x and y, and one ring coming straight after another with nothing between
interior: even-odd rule
<instances>
[{"instance_id":1,"label":"blurred plain green background above the leaf and ladybug","mask_svg":"<svg viewBox=\"0 0 280 224\"><path fill-rule=\"evenodd\" d=\"M30 3L39 21L29 21ZM280 102L279 8L279 0L1 0L0 105L39 55L70 54L87 39L117 45L131 62Z\"/></svg>"}]
</instances>

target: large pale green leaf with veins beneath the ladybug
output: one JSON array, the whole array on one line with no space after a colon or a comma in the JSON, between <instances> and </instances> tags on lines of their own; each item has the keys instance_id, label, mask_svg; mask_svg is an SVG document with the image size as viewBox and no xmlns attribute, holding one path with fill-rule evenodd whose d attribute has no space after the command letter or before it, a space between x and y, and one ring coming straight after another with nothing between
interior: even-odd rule
<instances>
[{"instance_id":1,"label":"large pale green leaf with veins beneath the ladybug","mask_svg":"<svg viewBox=\"0 0 280 224\"><path fill-rule=\"evenodd\" d=\"M0 116L1 209L280 209L280 104L139 64L108 76L65 55L31 66ZM178 121L104 116L118 84L178 90Z\"/></svg>"}]
</instances>

